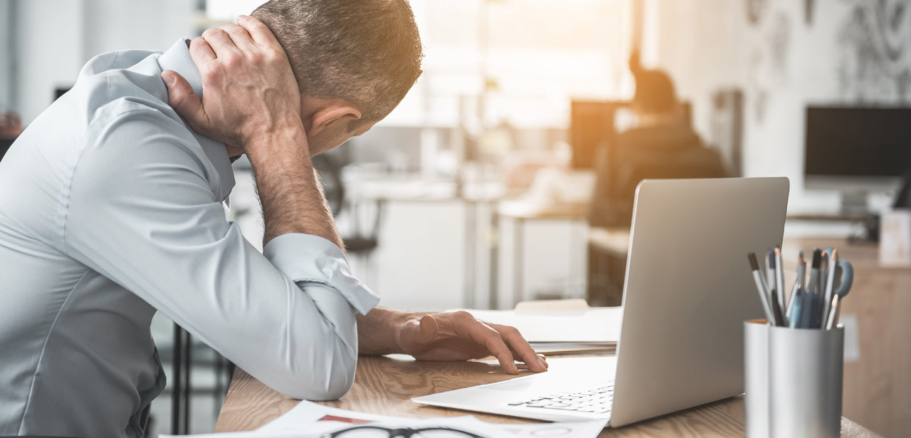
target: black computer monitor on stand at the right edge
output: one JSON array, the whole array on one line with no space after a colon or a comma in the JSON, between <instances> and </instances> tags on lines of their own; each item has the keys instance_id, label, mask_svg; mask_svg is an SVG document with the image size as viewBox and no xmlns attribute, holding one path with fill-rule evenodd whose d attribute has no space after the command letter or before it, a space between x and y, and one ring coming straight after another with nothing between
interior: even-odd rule
<instances>
[{"instance_id":1,"label":"black computer monitor on stand at the right edge","mask_svg":"<svg viewBox=\"0 0 911 438\"><path fill-rule=\"evenodd\" d=\"M860 210L866 193L895 189L909 168L911 108L807 107L807 188L841 191L843 207Z\"/></svg>"}]
</instances>

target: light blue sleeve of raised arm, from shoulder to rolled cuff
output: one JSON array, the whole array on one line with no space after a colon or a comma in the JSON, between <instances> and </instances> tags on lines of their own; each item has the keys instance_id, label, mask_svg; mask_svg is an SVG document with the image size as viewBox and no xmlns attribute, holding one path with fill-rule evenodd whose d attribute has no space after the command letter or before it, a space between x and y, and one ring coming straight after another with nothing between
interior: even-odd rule
<instances>
[{"instance_id":1,"label":"light blue sleeve of raised arm, from shoulder to rolled cuff","mask_svg":"<svg viewBox=\"0 0 911 438\"><path fill-rule=\"evenodd\" d=\"M92 123L62 199L67 254L146 300L276 391L333 400L353 384L355 315L379 298L314 235L260 254L225 219L218 175L178 121Z\"/></svg>"}]
</instances>

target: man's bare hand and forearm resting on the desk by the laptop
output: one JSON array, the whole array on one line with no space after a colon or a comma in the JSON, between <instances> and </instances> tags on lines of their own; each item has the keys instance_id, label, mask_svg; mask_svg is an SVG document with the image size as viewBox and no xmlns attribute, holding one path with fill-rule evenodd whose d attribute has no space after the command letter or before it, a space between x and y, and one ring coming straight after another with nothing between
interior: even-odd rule
<instances>
[{"instance_id":1,"label":"man's bare hand and forearm resting on the desk by the laptop","mask_svg":"<svg viewBox=\"0 0 911 438\"><path fill-rule=\"evenodd\" d=\"M516 328L476 319L468 312L410 313L374 308L358 315L362 355L410 354L417 360L469 360L494 356L510 374L517 374L515 360L528 370L548 370Z\"/></svg>"}]
</instances>

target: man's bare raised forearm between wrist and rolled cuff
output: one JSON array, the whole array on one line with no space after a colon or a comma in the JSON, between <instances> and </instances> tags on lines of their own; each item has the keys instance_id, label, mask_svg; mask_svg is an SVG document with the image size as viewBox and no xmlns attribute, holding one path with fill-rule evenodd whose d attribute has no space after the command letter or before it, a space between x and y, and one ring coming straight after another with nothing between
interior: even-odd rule
<instances>
[{"instance_id":1,"label":"man's bare raised forearm between wrist and rolled cuff","mask_svg":"<svg viewBox=\"0 0 911 438\"><path fill-rule=\"evenodd\" d=\"M262 136L246 148L262 204L266 245L286 233L318 235L344 250L313 169L302 128Z\"/></svg>"}]
</instances>

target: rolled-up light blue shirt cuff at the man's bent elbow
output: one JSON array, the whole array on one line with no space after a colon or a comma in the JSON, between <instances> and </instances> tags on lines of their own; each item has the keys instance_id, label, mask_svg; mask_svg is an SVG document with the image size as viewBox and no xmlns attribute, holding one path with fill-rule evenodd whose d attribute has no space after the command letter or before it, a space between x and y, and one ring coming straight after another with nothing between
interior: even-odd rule
<instances>
[{"instance_id":1,"label":"rolled-up light blue shirt cuff at the man's bent elbow","mask_svg":"<svg viewBox=\"0 0 911 438\"><path fill-rule=\"evenodd\" d=\"M262 248L262 255L294 283L313 281L332 287L363 315L380 302L374 291L352 275L342 250L320 236L279 235Z\"/></svg>"}]
</instances>

